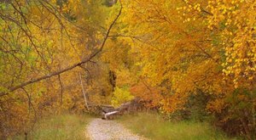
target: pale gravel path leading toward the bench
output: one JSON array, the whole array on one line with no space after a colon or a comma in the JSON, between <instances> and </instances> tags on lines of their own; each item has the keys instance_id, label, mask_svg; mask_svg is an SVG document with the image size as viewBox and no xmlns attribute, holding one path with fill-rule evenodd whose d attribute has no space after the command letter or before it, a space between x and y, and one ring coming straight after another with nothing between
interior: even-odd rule
<instances>
[{"instance_id":1,"label":"pale gravel path leading toward the bench","mask_svg":"<svg viewBox=\"0 0 256 140\"><path fill-rule=\"evenodd\" d=\"M91 120L87 134L92 140L146 140L144 137L132 134L114 120Z\"/></svg>"}]
</instances>

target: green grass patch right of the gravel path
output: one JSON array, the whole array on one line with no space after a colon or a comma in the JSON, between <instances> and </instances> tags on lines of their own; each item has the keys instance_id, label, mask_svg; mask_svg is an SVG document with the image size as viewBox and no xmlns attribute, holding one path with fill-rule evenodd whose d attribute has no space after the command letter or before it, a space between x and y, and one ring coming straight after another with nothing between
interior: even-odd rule
<instances>
[{"instance_id":1,"label":"green grass patch right of the gravel path","mask_svg":"<svg viewBox=\"0 0 256 140\"><path fill-rule=\"evenodd\" d=\"M224 133L207 122L164 120L160 115L141 113L122 116L119 120L132 132L153 140L225 140ZM234 138L233 138L234 139Z\"/></svg>"}]
</instances>

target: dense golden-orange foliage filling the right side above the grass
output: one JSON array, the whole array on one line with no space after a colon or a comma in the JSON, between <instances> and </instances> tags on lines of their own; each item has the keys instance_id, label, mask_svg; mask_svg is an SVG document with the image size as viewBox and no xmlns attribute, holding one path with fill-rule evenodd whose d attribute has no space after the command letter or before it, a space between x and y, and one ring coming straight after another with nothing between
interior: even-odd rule
<instances>
[{"instance_id":1,"label":"dense golden-orange foliage filling the right side above the grass","mask_svg":"<svg viewBox=\"0 0 256 140\"><path fill-rule=\"evenodd\" d=\"M141 67L139 76L159 90L154 95L147 92L149 96L141 96L145 91L137 95L145 100L162 96L158 104L168 112L182 109L189 94L198 90L218 97L237 86L253 87L252 82L247 84L247 80L255 81L253 4L197 0L125 3L129 18L123 21L129 23L131 34L143 36L141 42L131 43L131 50L139 53L135 55ZM216 99L211 104L218 111L224 101Z\"/></svg>"}]
</instances>

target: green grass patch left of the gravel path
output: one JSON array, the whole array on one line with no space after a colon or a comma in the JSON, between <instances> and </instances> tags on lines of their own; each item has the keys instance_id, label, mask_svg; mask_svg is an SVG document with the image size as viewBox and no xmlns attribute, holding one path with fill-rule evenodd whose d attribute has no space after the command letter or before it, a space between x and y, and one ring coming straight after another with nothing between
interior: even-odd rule
<instances>
[{"instance_id":1,"label":"green grass patch left of the gravel path","mask_svg":"<svg viewBox=\"0 0 256 140\"><path fill-rule=\"evenodd\" d=\"M35 140L79 140L88 139L85 134L89 115L55 115L38 121L28 139ZM24 139L23 136L12 139Z\"/></svg>"}]
</instances>

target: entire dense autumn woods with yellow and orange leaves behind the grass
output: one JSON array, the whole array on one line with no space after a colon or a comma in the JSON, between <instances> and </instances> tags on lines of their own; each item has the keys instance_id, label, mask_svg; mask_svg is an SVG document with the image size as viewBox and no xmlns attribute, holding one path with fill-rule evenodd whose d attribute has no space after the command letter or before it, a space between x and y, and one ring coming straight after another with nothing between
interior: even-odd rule
<instances>
[{"instance_id":1,"label":"entire dense autumn woods with yellow and orange leaves behind the grass","mask_svg":"<svg viewBox=\"0 0 256 140\"><path fill-rule=\"evenodd\" d=\"M255 0L1 0L0 137L138 98L256 138Z\"/></svg>"}]
</instances>

